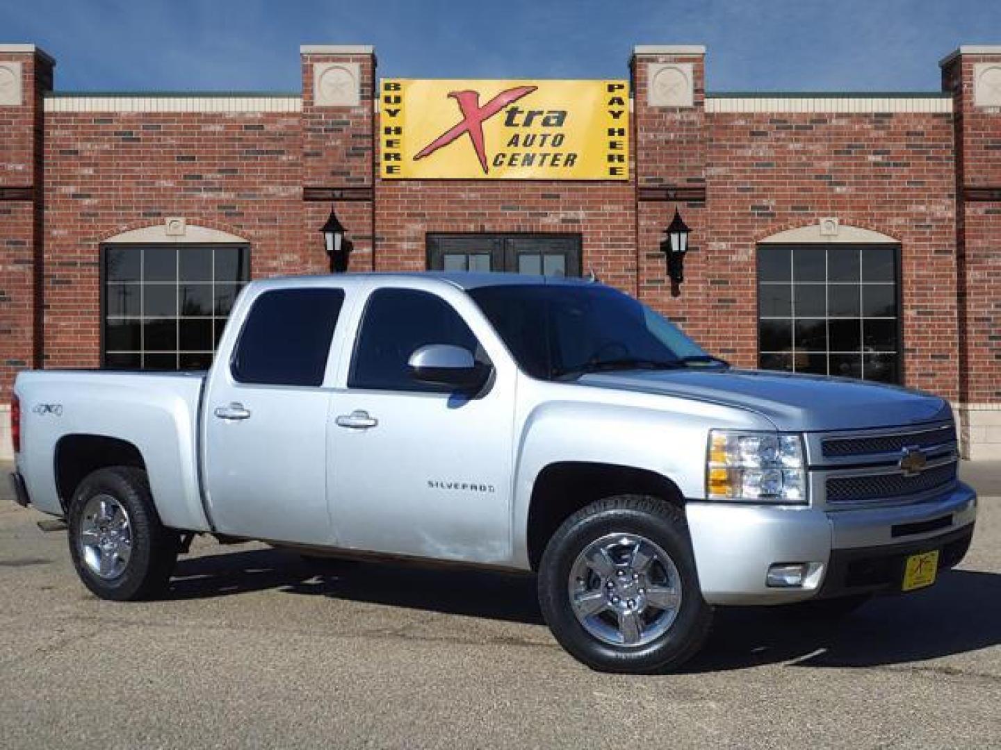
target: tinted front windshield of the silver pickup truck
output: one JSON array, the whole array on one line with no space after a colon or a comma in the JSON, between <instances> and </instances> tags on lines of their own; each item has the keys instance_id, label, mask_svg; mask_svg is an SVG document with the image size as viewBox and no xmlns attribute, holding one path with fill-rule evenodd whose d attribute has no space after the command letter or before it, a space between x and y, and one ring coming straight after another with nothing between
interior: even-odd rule
<instances>
[{"instance_id":1,"label":"tinted front windshield of the silver pickup truck","mask_svg":"<svg viewBox=\"0 0 1001 750\"><path fill-rule=\"evenodd\" d=\"M611 287L498 285L471 289L469 296L522 369L536 378L726 364L666 318Z\"/></svg>"}]
</instances>

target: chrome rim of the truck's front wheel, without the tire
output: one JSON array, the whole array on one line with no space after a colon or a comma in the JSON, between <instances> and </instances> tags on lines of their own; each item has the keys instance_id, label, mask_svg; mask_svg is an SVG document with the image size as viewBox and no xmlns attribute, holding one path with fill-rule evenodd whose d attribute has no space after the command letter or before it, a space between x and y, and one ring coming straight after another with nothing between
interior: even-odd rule
<instances>
[{"instance_id":1,"label":"chrome rim of the truck's front wheel, without the tire","mask_svg":"<svg viewBox=\"0 0 1001 750\"><path fill-rule=\"evenodd\" d=\"M608 534L577 556L570 603L595 638L644 646L668 632L682 605L682 581L671 556L639 534Z\"/></svg>"}]
</instances>

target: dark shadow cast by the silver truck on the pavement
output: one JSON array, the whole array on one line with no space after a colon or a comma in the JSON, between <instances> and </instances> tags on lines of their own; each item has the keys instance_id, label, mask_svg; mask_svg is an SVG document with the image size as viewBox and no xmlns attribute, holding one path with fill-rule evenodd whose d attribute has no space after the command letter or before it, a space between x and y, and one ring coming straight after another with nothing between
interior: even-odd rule
<instances>
[{"instance_id":1,"label":"dark shadow cast by the silver truck on the pavement","mask_svg":"<svg viewBox=\"0 0 1001 750\"><path fill-rule=\"evenodd\" d=\"M266 589L545 627L533 576L376 562L317 566L270 549L182 559L169 598ZM682 671L890 666L998 644L1001 574L953 570L933 588L874 599L838 621L793 618L776 607L720 608L706 647Z\"/></svg>"}]
</instances>

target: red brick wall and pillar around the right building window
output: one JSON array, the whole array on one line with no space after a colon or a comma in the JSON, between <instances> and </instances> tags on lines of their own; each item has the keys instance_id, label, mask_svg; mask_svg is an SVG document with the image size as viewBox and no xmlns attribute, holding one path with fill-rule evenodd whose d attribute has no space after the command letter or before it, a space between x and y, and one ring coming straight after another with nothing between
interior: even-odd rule
<instances>
[{"instance_id":1,"label":"red brick wall and pillar around the right building window","mask_svg":"<svg viewBox=\"0 0 1001 750\"><path fill-rule=\"evenodd\" d=\"M779 231L836 216L842 224L900 241L906 382L955 399L951 117L709 113L703 147L702 139L691 132L691 110L648 112L644 64L649 61L669 60L639 58L635 97L641 179L652 183L658 175L667 175L680 186L705 176L707 201L681 206L693 232L679 297L670 295L664 256L656 252L676 204L640 204L644 300L680 321L712 351L755 366L757 243ZM696 81L698 109L698 77ZM653 132L644 132L646 127ZM683 143L692 144L700 158L679 160L673 145L677 139L668 142L666 135L676 131L690 133ZM680 163L687 171L679 171Z\"/></svg>"}]
</instances>

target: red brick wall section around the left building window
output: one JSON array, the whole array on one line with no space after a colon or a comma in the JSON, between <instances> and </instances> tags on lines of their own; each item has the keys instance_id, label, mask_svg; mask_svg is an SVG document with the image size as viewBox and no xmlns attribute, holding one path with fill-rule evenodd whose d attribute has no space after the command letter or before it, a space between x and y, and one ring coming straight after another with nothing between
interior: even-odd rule
<instances>
[{"instance_id":1,"label":"red brick wall section around the left building window","mask_svg":"<svg viewBox=\"0 0 1001 750\"><path fill-rule=\"evenodd\" d=\"M98 248L120 232L183 216L246 238L255 277L325 267L297 114L49 113L45 158L47 367L99 363Z\"/></svg>"}]
</instances>

